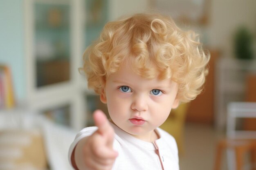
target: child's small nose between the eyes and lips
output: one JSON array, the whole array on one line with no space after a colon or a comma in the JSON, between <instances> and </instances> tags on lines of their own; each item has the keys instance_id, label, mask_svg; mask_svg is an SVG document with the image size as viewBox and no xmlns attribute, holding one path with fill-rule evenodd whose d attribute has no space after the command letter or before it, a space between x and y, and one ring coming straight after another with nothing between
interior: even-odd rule
<instances>
[{"instance_id":1,"label":"child's small nose between the eyes and lips","mask_svg":"<svg viewBox=\"0 0 256 170\"><path fill-rule=\"evenodd\" d=\"M148 103L147 103L146 97L144 97L143 95L135 95L133 97L131 108L132 110L137 110L137 111L148 110Z\"/></svg>"}]
</instances>

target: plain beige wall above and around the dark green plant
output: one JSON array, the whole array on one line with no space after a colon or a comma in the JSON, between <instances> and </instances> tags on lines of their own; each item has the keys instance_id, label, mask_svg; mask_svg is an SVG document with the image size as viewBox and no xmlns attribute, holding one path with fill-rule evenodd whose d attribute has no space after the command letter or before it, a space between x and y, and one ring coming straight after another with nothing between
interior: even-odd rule
<instances>
[{"instance_id":1,"label":"plain beige wall above and around the dark green plant","mask_svg":"<svg viewBox=\"0 0 256 170\"><path fill-rule=\"evenodd\" d=\"M232 39L238 26L247 26L256 38L255 9L256 0L211 0L209 46L221 49L224 57L233 57Z\"/></svg>"}]
</instances>

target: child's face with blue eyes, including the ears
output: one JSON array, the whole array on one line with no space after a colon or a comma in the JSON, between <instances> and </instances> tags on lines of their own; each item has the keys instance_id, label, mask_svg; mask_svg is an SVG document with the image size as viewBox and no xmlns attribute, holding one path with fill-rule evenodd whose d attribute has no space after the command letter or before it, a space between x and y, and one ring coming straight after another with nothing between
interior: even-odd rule
<instances>
[{"instance_id":1,"label":"child's face with blue eyes, including the ears","mask_svg":"<svg viewBox=\"0 0 256 170\"><path fill-rule=\"evenodd\" d=\"M124 64L106 79L101 101L107 103L112 121L131 135L148 141L179 101L177 83L140 77Z\"/></svg>"}]
</instances>

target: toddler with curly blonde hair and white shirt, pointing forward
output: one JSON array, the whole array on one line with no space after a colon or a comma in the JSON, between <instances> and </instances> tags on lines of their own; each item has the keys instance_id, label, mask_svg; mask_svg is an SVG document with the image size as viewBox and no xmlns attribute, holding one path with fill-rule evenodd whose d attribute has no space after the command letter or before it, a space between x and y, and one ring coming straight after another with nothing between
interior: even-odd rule
<instances>
[{"instance_id":1,"label":"toddler with curly blonde hair and white shirt, pointing forward","mask_svg":"<svg viewBox=\"0 0 256 170\"><path fill-rule=\"evenodd\" d=\"M175 139L159 126L201 92L209 55L170 17L140 13L108 22L85 50L88 87L107 104L70 146L76 170L179 170Z\"/></svg>"}]
</instances>

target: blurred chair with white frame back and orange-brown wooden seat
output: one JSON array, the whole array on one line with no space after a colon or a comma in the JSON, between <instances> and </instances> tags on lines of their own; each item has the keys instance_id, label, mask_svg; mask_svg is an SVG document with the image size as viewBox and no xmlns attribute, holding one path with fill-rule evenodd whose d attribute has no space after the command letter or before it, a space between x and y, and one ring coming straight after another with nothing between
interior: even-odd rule
<instances>
[{"instance_id":1,"label":"blurred chair with white frame back and orange-brown wooden seat","mask_svg":"<svg viewBox=\"0 0 256 170\"><path fill-rule=\"evenodd\" d=\"M250 154L252 170L256 170L256 132L236 130L236 118L249 117L256 118L256 102L231 102L228 105L227 139L217 144L214 170L221 169L222 152L228 149L234 150L236 170L243 170L246 152Z\"/></svg>"}]
</instances>

